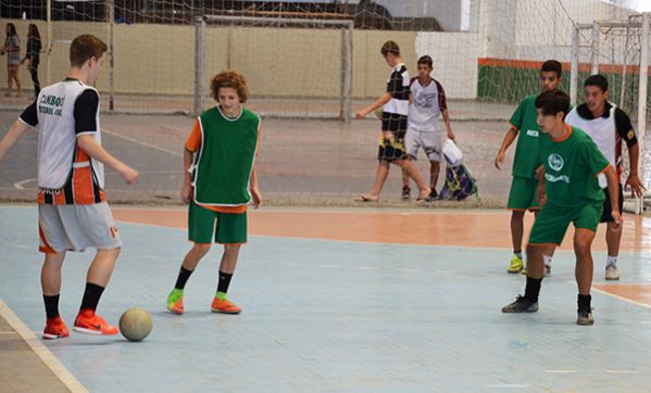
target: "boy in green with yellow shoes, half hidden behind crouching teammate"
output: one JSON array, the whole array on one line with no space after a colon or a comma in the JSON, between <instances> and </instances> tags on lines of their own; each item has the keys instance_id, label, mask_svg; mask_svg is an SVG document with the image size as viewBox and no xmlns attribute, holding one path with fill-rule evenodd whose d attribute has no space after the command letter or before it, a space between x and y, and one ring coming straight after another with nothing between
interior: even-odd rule
<instances>
[{"instance_id":1,"label":"boy in green with yellow shoes, half hidden behind crouching teammate","mask_svg":"<svg viewBox=\"0 0 651 393\"><path fill-rule=\"evenodd\" d=\"M554 90L561 85L563 65L555 60L548 60L540 67L540 89ZM500 147L494 166L498 169L504 162L506 149L517 138L515 156L513 157L513 181L509 192L506 207L511 213L511 241L513 243L513 257L509 272L519 272L524 269L522 257L522 239L524 233L525 212L538 212L537 202L538 179L536 168L540 165L538 157L538 135L540 128L536 122L536 107L534 101L537 94L525 98L511 116L511 128ZM550 259L551 261L551 259ZM547 265L547 264L546 264ZM524 272L524 271L523 271ZM549 271L548 271L549 274Z\"/></svg>"}]
</instances>

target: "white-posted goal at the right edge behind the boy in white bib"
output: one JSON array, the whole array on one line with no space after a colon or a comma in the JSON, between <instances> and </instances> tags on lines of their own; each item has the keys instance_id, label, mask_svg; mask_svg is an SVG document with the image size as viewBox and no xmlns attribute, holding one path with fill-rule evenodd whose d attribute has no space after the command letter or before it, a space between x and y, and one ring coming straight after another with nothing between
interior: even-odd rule
<instances>
[{"instance_id":1,"label":"white-posted goal at the right edge behind the boy in white bib","mask_svg":"<svg viewBox=\"0 0 651 393\"><path fill-rule=\"evenodd\" d=\"M647 188L643 201L625 191L625 208L638 214L651 208L651 144L649 127L649 33L650 13L627 21L594 21L575 24L572 37L569 96L573 104L583 101L583 80L601 74L609 79L610 101L622 107L637 126L640 160L638 173ZM628 177L628 151L623 149L623 179Z\"/></svg>"}]
</instances>

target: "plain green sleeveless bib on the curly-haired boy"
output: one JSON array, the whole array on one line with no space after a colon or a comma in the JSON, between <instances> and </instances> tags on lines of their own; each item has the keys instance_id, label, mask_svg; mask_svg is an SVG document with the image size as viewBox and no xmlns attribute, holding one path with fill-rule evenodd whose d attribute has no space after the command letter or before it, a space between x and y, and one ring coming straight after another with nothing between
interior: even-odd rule
<instances>
[{"instance_id":1,"label":"plain green sleeveless bib on the curly-haired boy","mask_svg":"<svg viewBox=\"0 0 651 393\"><path fill-rule=\"evenodd\" d=\"M213 206L247 204L251 200L248 186L258 149L260 117L242 107L238 118L227 118L215 106L201 114L200 125L195 200Z\"/></svg>"}]
</instances>

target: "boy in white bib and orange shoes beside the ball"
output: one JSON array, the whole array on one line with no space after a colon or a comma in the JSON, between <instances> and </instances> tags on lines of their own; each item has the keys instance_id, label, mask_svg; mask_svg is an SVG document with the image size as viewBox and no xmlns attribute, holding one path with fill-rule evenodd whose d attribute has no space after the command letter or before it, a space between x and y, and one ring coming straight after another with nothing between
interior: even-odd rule
<instances>
[{"instance_id":1,"label":"boy in white bib and orange shoes beside the ball","mask_svg":"<svg viewBox=\"0 0 651 393\"><path fill-rule=\"evenodd\" d=\"M66 251L97 249L88 268L86 291L74 330L117 334L117 328L95 314L113 272L122 241L103 192L103 165L133 185L138 172L101 145L99 94L91 86L104 63L107 45L82 35L70 48L67 77L42 89L0 141L0 161L25 131L38 130L39 250L46 254L41 287L46 305L43 339L70 334L59 315L61 267Z\"/></svg>"}]
</instances>

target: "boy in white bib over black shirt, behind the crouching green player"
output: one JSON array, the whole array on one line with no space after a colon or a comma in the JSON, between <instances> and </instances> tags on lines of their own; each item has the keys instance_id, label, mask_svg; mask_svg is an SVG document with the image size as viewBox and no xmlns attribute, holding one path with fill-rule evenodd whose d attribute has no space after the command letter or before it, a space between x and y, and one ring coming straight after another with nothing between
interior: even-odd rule
<instances>
[{"instance_id":1,"label":"boy in white bib over black shirt, behind the crouching green player","mask_svg":"<svg viewBox=\"0 0 651 393\"><path fill-rule=\"evenodd\" d=\"M592 138L601 153L616 168L617 179L622 175L622 141L628 148L628 160L630 161L630 173L626 185L630 185L633 192L641 196L643 193L642 182L638 177L638 159L640 150L638 140L630 124L628 115L608 102L608 79L602 75L591 75L584 83L586 102L578 105L567 115L567 124L583 129ZM601 186L604 187L602 179ZM617 255L619 254L619 241L622 231L615 230L615 223L611 216L611 199L604 190L605 201L601 223L606 223L605 242L608 244L608 259L605 265L605 279L618 280ZM619 211L622 211L624 193L619 182Z\"/></svg>"}]
</instances>

